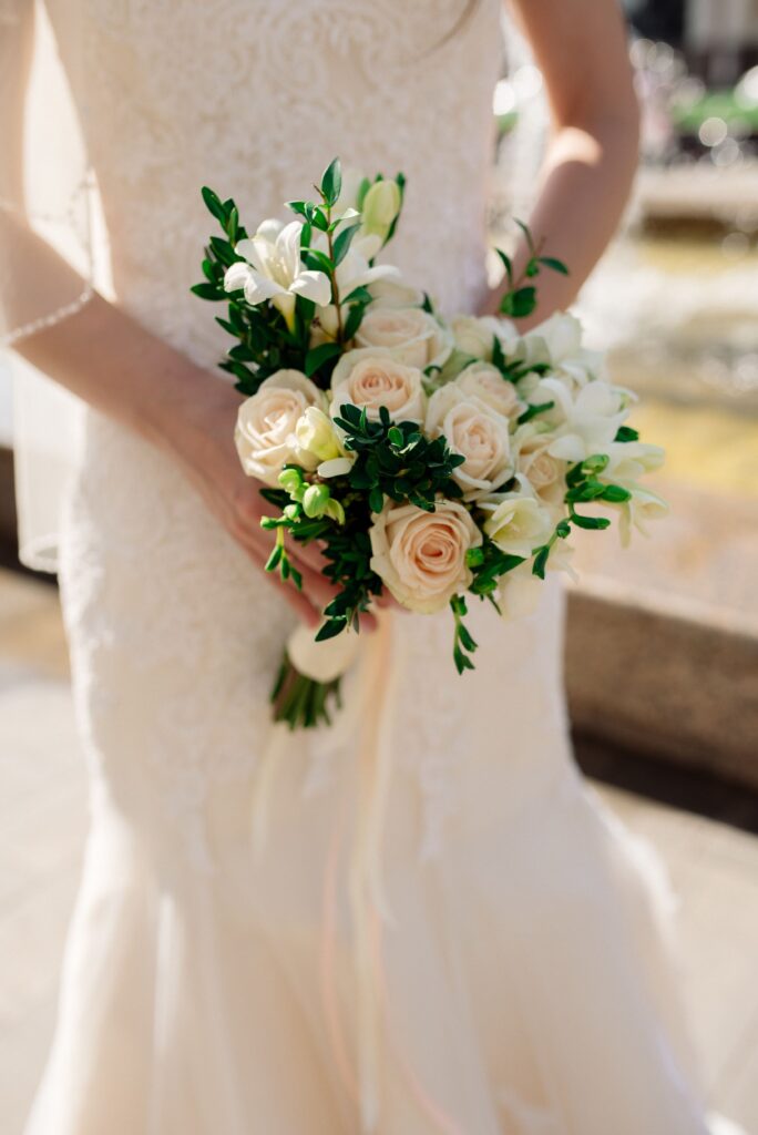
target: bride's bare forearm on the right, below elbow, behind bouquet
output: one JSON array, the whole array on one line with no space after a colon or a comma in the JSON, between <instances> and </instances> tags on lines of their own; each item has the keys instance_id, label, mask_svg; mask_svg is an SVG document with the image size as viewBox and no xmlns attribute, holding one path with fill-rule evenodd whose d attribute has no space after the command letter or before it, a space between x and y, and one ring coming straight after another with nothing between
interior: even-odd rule
<instances>
[{"instance_id":1,"label":"bride's bare forearm on the right, below elbow, behind bouquet","mask_svg":"<svg viewBox=\"0 0 758 1135\"><path fill-rule=\"evenodd\" d=\"M532 327L573 302L618 225L635 167L637 119L631 114L621 120L564 126L556 132L529 226L545 254L563 260L570 275L541 272L537 310L520 320L520 327ZM514 254L516 277L528 259L522 237ZM488 312L498 310L505 286L506 281L488 297Z\"/></svg>"}]
</instances>

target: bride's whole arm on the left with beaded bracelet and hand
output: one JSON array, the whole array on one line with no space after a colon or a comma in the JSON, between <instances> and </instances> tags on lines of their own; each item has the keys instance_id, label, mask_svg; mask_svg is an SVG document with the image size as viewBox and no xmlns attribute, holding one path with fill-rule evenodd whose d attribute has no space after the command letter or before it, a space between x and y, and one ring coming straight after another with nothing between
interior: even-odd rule
<instances>
[{"instance_id":1,"label":"bride's whole arm on the left with beaded bracelet and hand","mask_svg":"<svg viewBox=\"0 0 758 1135\"><path fill-rule=\"evenodd\" d=\"M31 8L19 6L19 10ZM0 23L0 61L6 65L5 96L0 99L0 201L22 196L20 138L30 33L28 25ZM60 296L78 295L84 287L23 217L2 208L0 255L0 275L10 281L0 302L10 327L24 327L40 311L54 311ZM255 482L243 473L234 449L241 396L227 381L196 367L99 295L76 314L17 339L14 347L56 381L176 460L224 527L262 569L271 543L260 528L267 506ZM331 590L318 570L318 550L297 552L304 594L292 586L286 586L285 594L302 619L314 622L317 605L325 605ZM267 578L281 586L275 577Z\"/></svg>"}]
</instances>

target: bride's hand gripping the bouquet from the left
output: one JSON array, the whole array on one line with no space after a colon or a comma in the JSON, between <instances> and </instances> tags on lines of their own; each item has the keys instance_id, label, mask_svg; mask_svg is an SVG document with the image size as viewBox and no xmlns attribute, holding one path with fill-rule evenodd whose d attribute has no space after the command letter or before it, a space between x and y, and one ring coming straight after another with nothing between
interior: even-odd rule
<instances>
[{"instance_id":1,"label":"bride's hand gripping the bouquet from the left","mask_svg":"<svg viewBox=\"0 0 758 1135\"><path fill-rule=\"evenodd\" d=\"M241 401L228 382L209 378L183 403L169 445L224 528L280 589L300 619L314 625L336 594L321 574L327 561L315 545L290 540L288 554L303 575L302 591L292 581L285 583L278 574L263 572L272 545L271 533L261 528L261 516L270 515L271 506L260 495L260 484L243 472L235 451L234 427Z\"/></svg>"}]
</instances>

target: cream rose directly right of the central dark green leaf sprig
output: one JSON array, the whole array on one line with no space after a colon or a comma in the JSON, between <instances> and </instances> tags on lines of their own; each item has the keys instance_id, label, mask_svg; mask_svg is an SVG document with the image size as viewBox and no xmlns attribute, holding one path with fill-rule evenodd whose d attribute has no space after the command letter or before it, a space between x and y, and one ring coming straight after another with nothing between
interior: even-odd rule
<instances>
[{"instance_id":1,"label":"cream rose directly right of the central dark green leaf sprig","mask_svg":"<svg viewBox=\"0 0 758 1135\"><path fill-rule=\"evenodd\" d=\"M468 396L457 382L432 394L424 430L430 437L444 434L450 449L465 457L453 478L466 497L491 493L511 476L508 419L480 398Z\"/></svg>"}]
</instances>

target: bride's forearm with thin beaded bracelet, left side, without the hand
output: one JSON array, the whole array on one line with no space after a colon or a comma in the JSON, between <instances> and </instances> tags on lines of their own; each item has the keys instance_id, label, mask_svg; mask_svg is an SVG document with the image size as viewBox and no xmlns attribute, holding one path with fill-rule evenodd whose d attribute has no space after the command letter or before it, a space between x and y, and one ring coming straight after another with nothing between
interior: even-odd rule
<instances>
[{"instance_id":1,"label":"bride's forearm with thin beaded bracelet, left side, without the hand","mask_svg":"<svg viewBox=\"0 0 758 1135\"><path fill-rule=\"evenodd\" d=\"M3 246L12 250L15 269L14 295L6 306L11 326L23 327L40 312L54 311L62 296L78 295L84 283L28 228L15 222L10 233L10 222L3 224ZM178 455L192 449L199 428L194 418L202 407L230 393L228 384L96 294L75 314L22 337L14 347L95 409Z\"/></svg>"}]
</instances>

